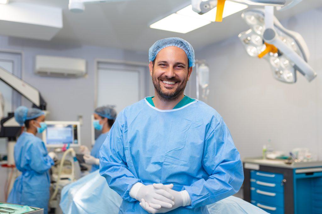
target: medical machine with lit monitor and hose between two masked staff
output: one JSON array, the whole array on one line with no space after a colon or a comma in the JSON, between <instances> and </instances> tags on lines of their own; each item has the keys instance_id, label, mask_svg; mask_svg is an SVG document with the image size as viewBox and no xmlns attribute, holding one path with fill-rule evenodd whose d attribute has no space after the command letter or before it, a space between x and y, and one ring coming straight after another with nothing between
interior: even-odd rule
<instances>
[{"instance_id":1,"label":"medical machine with lit monitor and hose between two masked staff","mask_svg":"<svg viewBox=\"0 0 322 214\"><path fill-rule=\"evenodd\" d=\"M52 167L51 198L49 207L61 214L59 207L62 188L81 177L80 164L73 148L81 145L81 124L78 121L45 121L47 129L43 132L43 142L48 150L54 149L58 161Z\"/></svg>"}]
</instances>

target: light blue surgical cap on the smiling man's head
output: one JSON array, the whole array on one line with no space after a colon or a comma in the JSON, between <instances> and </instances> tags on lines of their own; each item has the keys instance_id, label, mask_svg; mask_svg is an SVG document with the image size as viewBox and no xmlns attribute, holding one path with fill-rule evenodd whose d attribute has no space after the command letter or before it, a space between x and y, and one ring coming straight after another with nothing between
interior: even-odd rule
<instances>
[{"instance_id":1,"label":"light blue surgical cap on the smiling man's head","mask_svg":"<svg viewBox=\"0 0 322 214\"><path fill-rule=\"evenodd\" d=\"M160 39L156 41L149 49L150 62L156 58L156 55L161 49L169 46L179 47L184 50L189 60L189 67L194 67L194 48L186 40L177 37Z\"/></svg>"}]
</instances>

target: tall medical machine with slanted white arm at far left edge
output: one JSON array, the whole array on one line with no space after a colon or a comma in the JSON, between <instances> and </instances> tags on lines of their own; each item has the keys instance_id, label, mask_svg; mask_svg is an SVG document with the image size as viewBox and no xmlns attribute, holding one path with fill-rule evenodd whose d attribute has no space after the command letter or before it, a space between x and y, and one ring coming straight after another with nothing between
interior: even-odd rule
<instances>
[{"instance_id":1,"label":"tall medical machine with slanted white arm at far left edge","mask_svg":"<svg viewBox=\"0 0 322 214\"><path fill-rule=\"evenodd\" d=\"M39 108L41 110L46 110L46 102L37 89L24 82L20 78L16 77L14 74L6 71L2 67L0 67L0 79L12 89L16 90L22 96L31 101L33 107ZM2 102L1 106L3 105L5 104ZM8 174L7 187L5 190L5 195L7 196L12 188L14 179L18 174L14 163L14 145L16 143L17 137L21 133L21 126L15 121L13 112L8 113L8 116L5 117L2 111L2 115L0 116L0 137L7 139L7 163L2 164L1 167L11 169L11 172Z\"/></svg>"}]
</instances>

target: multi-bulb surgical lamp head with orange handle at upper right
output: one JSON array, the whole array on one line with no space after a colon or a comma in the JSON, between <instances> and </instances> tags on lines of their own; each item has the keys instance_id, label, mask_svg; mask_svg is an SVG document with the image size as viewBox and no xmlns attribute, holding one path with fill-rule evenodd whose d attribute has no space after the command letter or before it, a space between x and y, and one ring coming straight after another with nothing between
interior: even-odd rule
<instances>
[{"instance_id":1,"label":"multi-bulb surgical lamp head with orange handle at upper right","mask_svg":"<svg viewBox=\"0 0 322 214\"><path fill-rule=\"evenodd\" d=\"M273 28L267 28L263 9L251 9L242 14L250 30L239 34L248 55L265 59L271 66L273 76L282 82L294 83L296 71L308 81L316 73L308 65L309 51L303 37L285 29L272 15Z\"/></svg>"}]
</instances>

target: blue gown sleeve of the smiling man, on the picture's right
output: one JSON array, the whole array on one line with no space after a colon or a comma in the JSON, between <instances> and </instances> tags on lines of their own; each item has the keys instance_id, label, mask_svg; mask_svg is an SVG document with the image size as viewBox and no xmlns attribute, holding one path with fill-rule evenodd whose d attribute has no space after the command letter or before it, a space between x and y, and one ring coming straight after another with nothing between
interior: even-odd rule
<instances>
[{"instance_id":1,"label":"blue gown sleeve of the smiling man, on the picture's right","mask_svg":"<svg viewBox=\"0 0 322 214\"><path fill-rule=\"evenodd\" d=\"M217 122L216 122L217 121ZM184 186L191 198L186 208L205 206L237 193L244 180L239 152L222 119L213 118L204 142L202 165L210 175Z\"/></svg>"}]
</instances>

